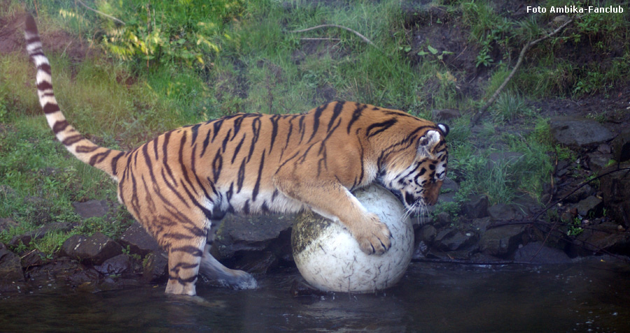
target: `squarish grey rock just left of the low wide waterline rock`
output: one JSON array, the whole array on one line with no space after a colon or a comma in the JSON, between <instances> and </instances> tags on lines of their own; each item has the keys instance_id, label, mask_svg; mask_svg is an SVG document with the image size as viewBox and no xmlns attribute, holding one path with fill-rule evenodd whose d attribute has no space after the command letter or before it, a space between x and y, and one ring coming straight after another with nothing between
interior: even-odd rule
<instances>
[{"instance_id":1,"label":"squarish grey rock just left of the low wide waterline rock","mask_svg":"<svg viewBox=\"0 0 630 333\"><path fill-rule=\"evenodd\" d=\"M521 244L523 233L522 225L492 228L484 232L479 239L479 250L490 256L508 256Z\"/></svg>"}]
</instances>

